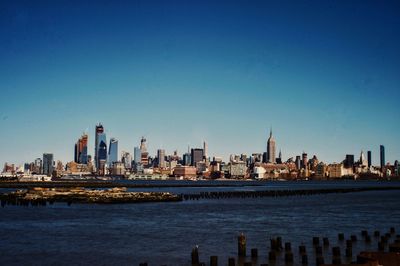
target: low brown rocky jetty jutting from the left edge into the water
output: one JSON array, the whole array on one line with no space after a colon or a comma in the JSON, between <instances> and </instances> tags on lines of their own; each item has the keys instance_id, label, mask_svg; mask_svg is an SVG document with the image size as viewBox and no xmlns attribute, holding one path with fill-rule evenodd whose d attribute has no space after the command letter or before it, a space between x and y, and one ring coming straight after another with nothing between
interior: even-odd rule
<instances>
[{"instance_id":1,"label":"low brown rocky jetty jutting from the left edge into the water","mask_svg":"<svg viewBox=\"0 0 400 266\"><path fill-rule=\"evenodd\" d=\"M181 201L180 196L168 192L127 192L126 188L107 190L85 188L42 188L17 190L0 195L1 205L46 205L54 202L71 203L139 203Z\"/></svg>"}]
</instances>

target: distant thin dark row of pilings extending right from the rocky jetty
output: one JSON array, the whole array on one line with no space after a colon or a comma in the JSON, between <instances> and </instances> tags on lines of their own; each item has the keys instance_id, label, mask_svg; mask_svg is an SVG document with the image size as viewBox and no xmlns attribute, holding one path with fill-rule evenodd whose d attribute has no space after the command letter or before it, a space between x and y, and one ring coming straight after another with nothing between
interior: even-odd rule
<instances>
[{"instance_id":1,"label":"distant thin dark row of pilings extending right from the rocky jetty","mask_svg":"<svg viewBox=\"0 0 400 266\"><path fill-rule=\"evenodd\" d=\"M310 196L331 193L351 193L374 190L399 190L399 187L363 187L363 188L332 188L332 189L293 189L293 190L259 190L259 191L211 191L196 194L181 194L184 200L228 199L228 198L262 198L285 196Z\"/></svg>"}]
</instances>

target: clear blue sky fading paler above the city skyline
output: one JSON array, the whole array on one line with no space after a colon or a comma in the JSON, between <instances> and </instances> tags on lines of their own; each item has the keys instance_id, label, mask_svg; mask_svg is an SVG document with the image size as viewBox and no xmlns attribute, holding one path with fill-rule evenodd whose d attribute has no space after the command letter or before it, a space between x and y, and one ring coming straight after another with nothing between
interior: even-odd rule
<instances>
[{"instance_id":1,"label":"clear blue sky fading paler above the city skyline","mask_svg":"<svg viewBox=\"0 0 400 266\"><path fill-rule=\"evenodd\" d=\"M0 1L0 163L102 122L133 153L187 145L400 159L399 1Z\"/></svg>"}]
</instances>

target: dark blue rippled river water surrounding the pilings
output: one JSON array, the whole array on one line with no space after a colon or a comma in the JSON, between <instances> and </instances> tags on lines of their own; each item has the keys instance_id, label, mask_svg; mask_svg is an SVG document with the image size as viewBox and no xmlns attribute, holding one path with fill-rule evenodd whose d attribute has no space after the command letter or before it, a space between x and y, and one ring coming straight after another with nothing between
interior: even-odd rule
<instances>
[{"instance_id":1,"label":"dark blue rippled river water surrounding the pilings","mask_svg":"<svg viewBox=\"0 0 400 266\"><path fill-rule=\"evenodd\" d=\"M238 183L239 184L239 183ZM399 186L376 182L275 182L260 187L149 188L176 193L235 189L299 189L355 186ZM136 190L136 189L135 189ZM143 190L143 189L139 189ZM6 206L0 209L0 265L189 265L192 247L201 261L218 255L220 265L237 253L237 235L258 248L259 263L267 262L269 239L282 236L307 245L310 265L312 237L337 233L346 239L361 230L400 230L400 193L368 191L305 197L246 198L125 205L54 204L48 207ZM331 250L331 247L329 250ZM358 241L358 250L375 249ZM329 253L327 251L327 253ZM344 250L342 249L342 254ZM329 261L329 255L326 262ZM353 257L354 259L354 257ZM278 261L277 264L280 264Z\"/></svg>"}]
</instances>

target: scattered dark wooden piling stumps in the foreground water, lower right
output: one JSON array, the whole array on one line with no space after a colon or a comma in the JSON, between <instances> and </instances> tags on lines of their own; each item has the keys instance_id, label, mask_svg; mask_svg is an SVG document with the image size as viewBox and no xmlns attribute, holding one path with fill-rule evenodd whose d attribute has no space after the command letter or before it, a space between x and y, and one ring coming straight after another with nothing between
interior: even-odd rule
<instances>
[{"instance_id":1,"label":"scattered dark wooden piling stumps in the foreground water, lower right","mask_svg":"<svg viewBox=\"0 0 400 266\"><path fill-rule=\"evenodd\" d=\"M378 250L379 251L384 251L386 246L389 246L389 251L390 252L399 252L399 246L400 246L400 235L396 235L395 242L393 244L388 244L389 239L395 234L395 228L392 227L390 228L390 231L383 236L381 236L380 231L374 231L373 237L374 239L379 240L378 242ZM363 230L361 231L361 238L366 242L369 243L372 240L372 236L369 235L368 231ZM322 241L320 241L322 240ZM341 247L340 246L333 246L332 247L332 264L339 265L342 263L342 256L345 255L347 259L352 259L353 257L353 244L355 244L357 241L360 241L357 237L357 235L351 235L349 239L345 239L345 236L343 233L338 234L338 241L339 243L344 243L346 244L345 248L345 253L342 254L341 252ZM237 238L237 244L238 244L238 258L241 261L241 264L236 263L236 258L230 257L228 258L228 265L229 266L236 266L236 265L244 265L244 266L252 266L253 265L253 260L258 258L258 249L253 248L251 249L250 252L250 258L251 261L245 261L243 259L248 258L248 254L246 253L246 236L241 233L238 238ZM322 244L322 246L321 246ZM381 245L383 245L383 249L381 249ZM325 259L323 256L323 250L326 250L330 246L329 239L324 237L313 237L312 238L312 246L314 248L314 254L315 254L315 265L321 266L325 264ZM323 248L324 247L324 248ZM274 263L277 261L277 258L279 255L282 255L284 253L284 263L285 265L309 265L309 257L307 255L307 248L304 244L300 245L298 247L298 253L300 256L300 261L295 262L294 261L294 253L292 250L292 245L290 242L282 242L281 237L275 237L270 239L270 250L268 253L268 262L269 263ZM191 264L192 266L203 266L206 265L203 262L200 262L199 259L199 248L196 246L195 248L192 249L191 253ZM210 263L209 265L211 266L217 266L218 265L218 257L213 255L210 256ZM260 266L265 266L268 265L266 264L259 264Z\"/></svg>"}]
</instances>

